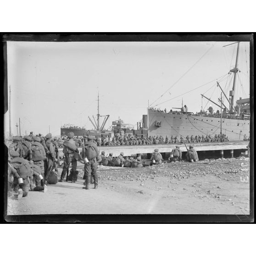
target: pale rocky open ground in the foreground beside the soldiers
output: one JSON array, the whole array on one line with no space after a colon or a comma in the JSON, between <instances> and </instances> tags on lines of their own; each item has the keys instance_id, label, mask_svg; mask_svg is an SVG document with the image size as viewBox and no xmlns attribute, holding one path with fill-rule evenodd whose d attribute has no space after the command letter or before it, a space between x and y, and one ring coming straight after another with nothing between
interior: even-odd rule
<instances>
[{"instance_id":1,"label":"pale rocky open ground in the foreground beside the soldiers","mask_svg":"<svg viewBox=\"0 0 256 256\"><path fill-rule=\"evenodd\" d=\"M99 189L82 189L80 169L75 184L48 185L47 193L30 191L22 200L10 196L7 213L249 214L248 159L106 169L99 168Z\"/></svg>"}]
</instances>

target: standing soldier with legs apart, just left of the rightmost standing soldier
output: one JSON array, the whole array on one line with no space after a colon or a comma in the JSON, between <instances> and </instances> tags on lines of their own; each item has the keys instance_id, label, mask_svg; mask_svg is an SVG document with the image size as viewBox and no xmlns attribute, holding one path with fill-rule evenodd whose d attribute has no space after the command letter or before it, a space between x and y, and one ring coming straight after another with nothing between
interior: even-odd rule
<instances>
[{"instance_id":1,"label":"standing soldier with legs apart, just left of the rightmost standing soldier","mask_svg":"<svg viewBox=\"0 0 256 256\"><path fill-rule=\"evenodd\" d=\"M65 156L65 159L64 159L64 166L63 166L62 173L61 173L61 179L59 180L59 182L64 181L68 167L71 163L72 169L70 172L70 178L72 179L72 183L75 183L78 178L77 161L80 159L79 151L78 151L76 142L73 139L74 133L69 132L67 134L67 136L68 136L69 140L65 141L63 143L63 151L62 152Z\"/></svg>"}]
</instances>

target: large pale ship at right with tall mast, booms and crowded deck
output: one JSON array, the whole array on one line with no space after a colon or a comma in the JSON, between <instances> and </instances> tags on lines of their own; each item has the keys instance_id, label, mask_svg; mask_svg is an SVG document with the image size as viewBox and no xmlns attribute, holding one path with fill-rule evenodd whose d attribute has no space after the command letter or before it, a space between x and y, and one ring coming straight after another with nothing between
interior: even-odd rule
<instances>
[{"instance_id":1,"label":"large pale ship at right with tall mast, booms and crowded deck","mask_svg":"<svg viewBox=\"0 0 256 256\"><path fill-rule=\"evenodd\" d=\"M218 82L216 86L221 89L223 95L222 99L218 99L220 103L202 95L217 105L219 110L214 113L210 106L208 112L201 109L200 112L194 114L189 112L183 104L178 111L170 112L148 107L148 114L143 115L143 128L147 129L148 136L161 135L164 138L166 136L170 138L173 135L173 137L178 136L180 138L180 136L186 137L188 135L189 137L191 135L204 135L205 137L206 135L225 134L229 140L243 140L250 137L250 98L242 99L239 97L239 100L236 100L236 106L234 106L236 78L240 70L238 69L239 42L233 44L237 44L237 53L235 66L228 72L230 75L234 74L233 88L229 91L229 97Z\"/></svg>"}]
</instances>

